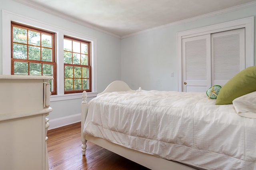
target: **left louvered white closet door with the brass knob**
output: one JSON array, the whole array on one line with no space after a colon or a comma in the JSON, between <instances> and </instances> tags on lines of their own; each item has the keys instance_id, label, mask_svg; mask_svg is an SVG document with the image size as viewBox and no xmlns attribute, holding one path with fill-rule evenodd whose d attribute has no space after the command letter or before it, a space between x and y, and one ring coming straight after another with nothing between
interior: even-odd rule
<instances>
[{"instance_id":1,"label":"left louvered white closet door with the brass knob","mask_svg":"<svg viewBox=\"0 0 256 170\"><path fill-rule=\"evenodd\" d=\"M210 34L182 39L182 91L205 92L211 85Z\"/></svg>"}]
</instances>

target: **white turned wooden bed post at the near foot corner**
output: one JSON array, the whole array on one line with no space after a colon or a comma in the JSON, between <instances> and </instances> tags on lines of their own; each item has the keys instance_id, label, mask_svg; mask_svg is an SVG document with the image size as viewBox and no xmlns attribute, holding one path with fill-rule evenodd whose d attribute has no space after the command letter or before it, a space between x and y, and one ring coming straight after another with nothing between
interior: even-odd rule
<instances>
[{"instance_id":1,"label":"white turned wooden bed post at the near foot corner","mask_svg":"<svg viewBox=\"0 0 256 170\"><path fill-rule=\"evenodd\" d=\"M87 99L87 93L86 91L83 92L82 94L82 109L81 109L81 140L82 140L82 152L83 152L83 155L85 155L85 151L86 151L86 142L87 140L85 140L85 136L83 134L83 128L84 128L84 123L85 123L85 119L86 119L86 116L87 116L87 108L88 108L88 103L86 101Z\"/></svg>"}]
</instances>

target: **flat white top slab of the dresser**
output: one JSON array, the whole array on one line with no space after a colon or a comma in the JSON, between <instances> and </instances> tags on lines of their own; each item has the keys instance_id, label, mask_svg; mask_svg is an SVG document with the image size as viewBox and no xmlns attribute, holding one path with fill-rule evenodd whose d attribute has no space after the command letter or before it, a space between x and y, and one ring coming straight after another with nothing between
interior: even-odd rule
<instances>
[{"instance_id":1,"label":"flat white top slab of the dresser","mask_svg":"<svg viewBox=\"0 0 256 170\"><path fill-rule=\"evenodd\" d=\"M23 79L23 80L49 80L53 79L53 77L45 76L45 75L0 75L1 79Z\"/></svg>"}]
</instances>

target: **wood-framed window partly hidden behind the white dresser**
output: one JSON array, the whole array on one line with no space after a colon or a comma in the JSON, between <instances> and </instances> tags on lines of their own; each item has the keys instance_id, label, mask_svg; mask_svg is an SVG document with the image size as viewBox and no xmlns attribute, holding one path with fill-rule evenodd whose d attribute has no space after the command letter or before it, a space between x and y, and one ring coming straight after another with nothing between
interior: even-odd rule
<instances>
[{"instance_id":1,"label":"wood-framed window partly hidden behind the white dresser","mask_svg":"<svg viewBox=\"0 0 256 170\"><path fill-rule=\"evenodd\" d=\"M11 29L11 74L52 76L56 95L55 33L16 22Z\"/></svg>"}]
</instances>

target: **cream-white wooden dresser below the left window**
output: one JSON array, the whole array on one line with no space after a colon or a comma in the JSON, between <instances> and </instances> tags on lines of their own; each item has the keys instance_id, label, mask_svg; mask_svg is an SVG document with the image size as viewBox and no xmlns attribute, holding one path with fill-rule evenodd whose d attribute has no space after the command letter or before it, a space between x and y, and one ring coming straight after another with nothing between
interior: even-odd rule
<instances>
[{"instance_id":1,"label":"cream-white wooden dresser below the left window","mask_svg":"<svg viewBox=\"0 0 256 170\"><path fill-rule=\"evenodd\" d=\"M47 76L0 75L0 170L48 170Z\"/></svg>"}]
</instances>

